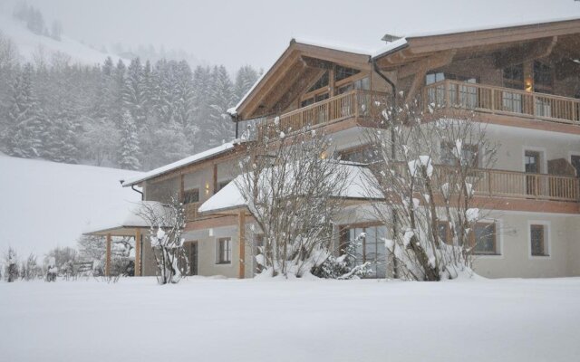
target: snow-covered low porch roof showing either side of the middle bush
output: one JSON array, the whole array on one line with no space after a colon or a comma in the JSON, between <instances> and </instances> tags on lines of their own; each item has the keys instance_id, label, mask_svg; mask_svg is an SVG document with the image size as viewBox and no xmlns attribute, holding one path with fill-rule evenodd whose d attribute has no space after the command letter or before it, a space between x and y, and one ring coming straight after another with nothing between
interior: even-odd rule
<instances>
[{"instance_id":1,"label":"snow-covered low porch roof showing either side of the middle bush","mask_svg":"<svg viewBox=\"0 0 580 362\"><path fill-rule=\"evenodd\" d=\"M369 185L369 179L374 176L367 167L351 163L341 163L340 167L343 167L347 176L346 187L333 196L354 199L382 198L381 192ZM238 188L238 185L242 183L242 177L237 176L216 195L209 197L205 203L199 206L198 212L211 213L246 206L247 202Z\"/></svg>"}]
</instances>

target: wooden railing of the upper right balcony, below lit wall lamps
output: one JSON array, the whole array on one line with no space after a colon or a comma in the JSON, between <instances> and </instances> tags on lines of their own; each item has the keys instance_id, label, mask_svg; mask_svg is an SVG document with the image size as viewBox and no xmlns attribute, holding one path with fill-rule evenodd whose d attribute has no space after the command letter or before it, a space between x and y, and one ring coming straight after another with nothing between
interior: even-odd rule
<instances>
[{"instance_id":1,"label":"wooden railing of the upper right balcony, below lit wall lamps","mask_svg":"<svg viewBox=\"0 0 580 362\"><path fill-rule=\"evenodd\" d=\"M464 81L439 81L425 87L428 104L494 114L516 115L580 126L580 100Z\"/></svg>"}]
</instances>

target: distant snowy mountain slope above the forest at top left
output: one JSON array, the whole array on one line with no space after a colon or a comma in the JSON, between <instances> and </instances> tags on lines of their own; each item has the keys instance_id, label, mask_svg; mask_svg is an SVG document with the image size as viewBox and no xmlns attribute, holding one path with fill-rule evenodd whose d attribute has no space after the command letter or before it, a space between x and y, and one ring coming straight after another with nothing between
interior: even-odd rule
<instances>
[{"instance_id":1,"label":"distant snowy mountain slope above the forest at top left","mask_svg":"<svg viewBox=\"0 0 580 362\"><path fill-rule=\"evenodd\" d=\"M113 62L117 62L120 57L110 53L99 52L88 45L82 44L63 35L60 42L43 35L38 35L26 28L23 22L14 19L7 14L0 14L0 32L10 38L18 47L18 52L25 61L32 62L34 54L39 52L39 47L43 49L47 61L54 52L63 52L71 56L73 63L92 65L102 63L108 56Z\"/></svg>"}]
</instances>

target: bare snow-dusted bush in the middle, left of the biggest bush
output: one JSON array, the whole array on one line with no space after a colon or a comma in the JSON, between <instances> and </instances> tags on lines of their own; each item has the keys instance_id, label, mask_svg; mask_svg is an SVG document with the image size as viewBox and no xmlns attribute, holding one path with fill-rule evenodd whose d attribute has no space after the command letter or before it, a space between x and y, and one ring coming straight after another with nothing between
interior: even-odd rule
<instances>
[{"instance_id":1,"label":"bare snow-dusted bush in the middle, left of the biggest bush","mask_svg":"<svg viewBox=\"0 0 580 362\"><path fill-rule=\"evenodd\" d=\"M234 182L263 236L262 273L302 278L331 257L333 216L343 205L333 196L343 195L347 170L321 157L330 146L322 132L283 137L270 127L248 145Z\"/></svg>"}]
</instances>

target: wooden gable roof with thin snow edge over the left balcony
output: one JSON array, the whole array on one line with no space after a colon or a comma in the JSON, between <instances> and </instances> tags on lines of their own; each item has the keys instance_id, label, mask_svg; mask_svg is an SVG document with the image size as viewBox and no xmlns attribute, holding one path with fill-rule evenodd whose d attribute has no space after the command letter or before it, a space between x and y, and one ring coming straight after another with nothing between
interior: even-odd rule
<instances>
[{"instance_id":1,"label":"wooden gable roof with thin snow edge over the left balcony","mask_svg":"<svg viewBox=\"0 0 580 362\"><path fill-rule=\"evenodd\" d=\"M256 81L237 106L227 112L239 120L267 115L268 107L272 107L296 83L305 86L320 75L319 69L304 62L305 58L362 69L370 67L371 52L292 39L274 65Z\"/></svg>"}]
</instances>

